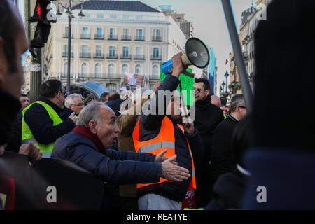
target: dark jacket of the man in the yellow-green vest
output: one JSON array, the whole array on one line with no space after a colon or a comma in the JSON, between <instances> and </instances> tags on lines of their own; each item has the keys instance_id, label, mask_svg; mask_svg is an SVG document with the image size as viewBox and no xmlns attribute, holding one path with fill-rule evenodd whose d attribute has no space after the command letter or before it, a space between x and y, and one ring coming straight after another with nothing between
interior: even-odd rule
<instances>
[{"instance_id":1,"label":"dark jacket of the man in the yellow-green vest","mask_svg":"<svg viewBox=\"0 0 315 224\"><path fill-rule=\"evenodd\" d=\"M25 112L24 119L31 129L31 133L40 144L50 144L55 142L59 137L71 132L73 128L76 127L73 120L69 118L73 111L66 107L61 109L45 97L38 97L37 100L43 101L51 106L64 121L63 123L54 126L48 112L41 104L31 105Z\"/></svg>"}]
</instances>

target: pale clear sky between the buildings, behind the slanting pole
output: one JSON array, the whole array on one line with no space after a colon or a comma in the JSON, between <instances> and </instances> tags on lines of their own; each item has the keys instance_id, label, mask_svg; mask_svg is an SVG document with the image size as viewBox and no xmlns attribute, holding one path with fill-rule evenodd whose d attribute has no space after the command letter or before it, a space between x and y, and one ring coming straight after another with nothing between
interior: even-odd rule
<instances>
[{"instance_id":1,"label":"pale clear sky between the buildings, behind the slanting pole","mask_svg":"<svg viewBox=\"0 0 315 224\"><path fill-rule=\"evenodd\" d=\"M224 80L225 59L229 59L232 45L221 0L143 0L142 2L153 8L172 5L176 12L185 13L186 19L193 22L195 37L214 48L218 66L218 83ZM231 0L231 3L239 31L241 12L251 7L251 0ZM255 0L253 3L255 6Z\"/></svg>"}]
</instances>

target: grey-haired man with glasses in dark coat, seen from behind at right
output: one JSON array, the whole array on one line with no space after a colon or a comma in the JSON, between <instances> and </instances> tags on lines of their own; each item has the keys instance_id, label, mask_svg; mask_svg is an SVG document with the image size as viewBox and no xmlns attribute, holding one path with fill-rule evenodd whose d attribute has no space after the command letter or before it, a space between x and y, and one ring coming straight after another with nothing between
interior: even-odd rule
<instances>
[{"instance_id":1,"label":"grey-haired man with glasses in dark coat, seen from behind at right","mask_svg":"<svg viewBox=\"0 0 315 224\"><path fill-rule=\"evenodd\" d=\"M216 130L214 130L214 140L212 146L212 165L214 179L218 176L230 172L235 162L232 159L231 139L235 126L246 116L246 106L243 94L237 94L231 99L231 113Z\"/></svg>"}]
</instances>

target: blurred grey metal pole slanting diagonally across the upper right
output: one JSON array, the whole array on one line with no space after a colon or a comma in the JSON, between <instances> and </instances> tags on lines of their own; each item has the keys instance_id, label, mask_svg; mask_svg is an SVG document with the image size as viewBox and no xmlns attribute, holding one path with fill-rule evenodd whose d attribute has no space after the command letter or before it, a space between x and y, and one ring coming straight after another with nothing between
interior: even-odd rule
<instances>
[{"instance_id":1,"label":"blurred grey metal pole slanting diagonally across the upper right","mask_svg":"<svg viewBox=\"0 0 315 224\"><path fill-rule=\"evenodd\" d=\"M232 48L235 54L235 64L237 65L237 69L239 71L241 89L244 94L246 109L248 113L250 113L253 109L253 92L251 92L251 86L248 82L247 71L244 64L243 55L241 53L241 45L239 44L239 36L235 27L235 18L233 15L230 0L221 0L221 2L225 13L225 20L228 25L228 30L230 32Z\"/></svg>"}]
</instances>

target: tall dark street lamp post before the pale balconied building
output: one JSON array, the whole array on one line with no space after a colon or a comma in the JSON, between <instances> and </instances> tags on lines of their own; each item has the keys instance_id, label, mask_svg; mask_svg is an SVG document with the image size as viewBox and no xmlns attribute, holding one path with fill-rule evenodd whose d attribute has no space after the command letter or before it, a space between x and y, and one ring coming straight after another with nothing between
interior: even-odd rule
<instances>
[{"instance_id":1,"label":"tall dark street lamp post before the pale balconied building","mask_svg":"<svg viewBox=\"0 0 315 224\"><path fill-rule=\"evenodd\" d=\"M66 94L70 94L70 73L71 73L71 21L72 18L74 18L74 16L72 15L72 6L71 6L71 0L69 0L69 6L68 7L64 7L62 5L62 3L58 3L58 11L57 11L57 15L62 15L62 13L60 13L59 11L59 5L62 6L62 8L66 9L66 14L68 15L68 68L67 68L67 75L66 75ZM82 12L83 10L83 6L81 5L81 10L80 13L78 14L78 16L80 18L84 17L84 14Z\"/></svg>"}]
</instances>

